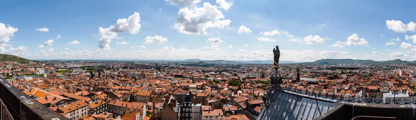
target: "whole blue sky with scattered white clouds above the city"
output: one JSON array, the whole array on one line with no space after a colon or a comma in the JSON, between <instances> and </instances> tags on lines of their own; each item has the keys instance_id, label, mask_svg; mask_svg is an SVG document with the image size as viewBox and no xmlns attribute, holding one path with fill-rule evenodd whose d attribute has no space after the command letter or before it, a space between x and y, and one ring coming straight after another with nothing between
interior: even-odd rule
<instances>
[{"instance_id":1,"label":"whole blue sky with scattered white clouds above the city","mask_svg":"<svg viewBox=\"0 0 416 120\"><path fill-rule=\"evenodd\" d=\"M415 2L6 0L0 51L30 59L267 60L280 45L281 60L416 60Z\"/></svg>"}]
</instances>

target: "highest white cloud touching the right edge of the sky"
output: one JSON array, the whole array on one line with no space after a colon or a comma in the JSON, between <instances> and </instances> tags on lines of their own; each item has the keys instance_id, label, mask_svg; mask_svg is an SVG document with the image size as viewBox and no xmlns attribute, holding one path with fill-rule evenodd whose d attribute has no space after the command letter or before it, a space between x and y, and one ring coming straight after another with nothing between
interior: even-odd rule
<instances>
[{"instance_id":1,"label":"highest white cloud touching the right edge of the sky","mask_svg":"<svg viewBox=\"0 0 416 120\"><path fill-rule=\"evenodd\" d=\"M410 21L409 23L404 24L400 20L386 20L386 25L388 29L391 29L395 32L406 33L406 31L415 31L416 30L416 23Z\"/></svg>"}]
</instances>

